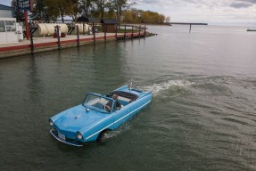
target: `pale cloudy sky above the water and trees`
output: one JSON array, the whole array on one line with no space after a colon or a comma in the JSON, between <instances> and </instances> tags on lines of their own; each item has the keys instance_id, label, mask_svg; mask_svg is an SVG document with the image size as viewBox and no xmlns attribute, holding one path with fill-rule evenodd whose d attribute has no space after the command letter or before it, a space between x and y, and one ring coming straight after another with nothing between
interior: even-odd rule
<instances>
[{"instance_id":1,"label":"pale cloudy sky above the water and trees","mask_svg":"<svg viewBox=\"0 0 256 171\"><path fill-rule=\"evenodd\" d=\"M173 22L256 25L256 0L130 0L136 9L159 12ZM0 0L10 5L11 0Z\"/></svg>"}]
</instances>

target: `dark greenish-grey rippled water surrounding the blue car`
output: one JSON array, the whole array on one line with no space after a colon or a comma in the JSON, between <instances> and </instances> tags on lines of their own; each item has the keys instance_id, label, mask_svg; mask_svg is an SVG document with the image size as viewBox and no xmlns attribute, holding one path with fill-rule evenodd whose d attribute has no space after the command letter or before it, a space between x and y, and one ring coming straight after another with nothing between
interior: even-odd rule
<instances>
[{"instance_id":1,"label":"dark greenish-grey rippled water surrounding the blue car","mask_svg":"<svg viewBox=\"0 0 256 171\"><path fill-rule=\"evenodd\" d=\"M156 37L0 60L0 170L256 170L256 34L150 27ZM153 102L76 148L48 118L133 79Z\"/></svg>"}]
</instances>

